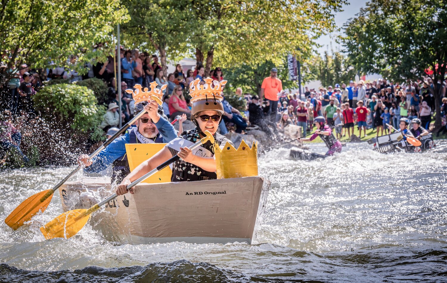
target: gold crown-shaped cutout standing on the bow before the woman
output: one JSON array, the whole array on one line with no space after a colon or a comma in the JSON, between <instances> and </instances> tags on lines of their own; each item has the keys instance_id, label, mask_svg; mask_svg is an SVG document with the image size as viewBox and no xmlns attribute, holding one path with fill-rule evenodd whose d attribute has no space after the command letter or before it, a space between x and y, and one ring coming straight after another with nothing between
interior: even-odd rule
<instances>
[{"instance_id":1,"label":"gold crown-shaped cutout standing on the bow before the woman","mask_svg":"<svg viewBox=\"0 0 447 283\"><path fill-rule=\"evenodd\" d=\"M257 143L250 148L244 140L239 148L225 144L223 149L214 145L217 179L257 176Z\"/></svg>"}]
</instances>

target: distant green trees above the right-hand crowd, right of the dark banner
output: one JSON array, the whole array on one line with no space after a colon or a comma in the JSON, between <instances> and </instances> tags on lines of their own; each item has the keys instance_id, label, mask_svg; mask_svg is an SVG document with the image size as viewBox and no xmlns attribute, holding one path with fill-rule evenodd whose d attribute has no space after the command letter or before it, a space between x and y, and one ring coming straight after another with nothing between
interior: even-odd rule
<instances>
[{"instance_id":1,"label":"distant green trees above the right-hand crowd, right of the dark banner","mask_svg":"<svg viewBox=\"0 0 447 283\"><path fill-rule=\"evenodd\" d=\"M304 82L319 80L322 86L333 86L354 79L357 70L347 55L340 52L330 55L325 51L323 57L316 55L303 64L302 73Z\"/></svg>"}]
</instances>

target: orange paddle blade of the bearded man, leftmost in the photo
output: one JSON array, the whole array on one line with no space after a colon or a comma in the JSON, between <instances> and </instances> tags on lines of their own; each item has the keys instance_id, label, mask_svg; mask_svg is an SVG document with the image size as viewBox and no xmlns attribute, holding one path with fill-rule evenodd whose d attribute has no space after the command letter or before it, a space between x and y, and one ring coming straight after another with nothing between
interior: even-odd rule
<instances>
[{"instance_id":1,"label":"orange paddle blade of the bearded man, leftmost in the photo","mask_svg":"<svg viewBox=\"0 0 447 283\"><path fill-rule=\"evenodd\" d=\"M25 221L31 220L31 217L36 215L39 211L44 211L50 204L53 197L53 190L49 189L42 191L28 197L25 201L17 206L16 209L11 212L4 222L13 230L17 230L23 225Z\"/></svg>"}]
</instances>

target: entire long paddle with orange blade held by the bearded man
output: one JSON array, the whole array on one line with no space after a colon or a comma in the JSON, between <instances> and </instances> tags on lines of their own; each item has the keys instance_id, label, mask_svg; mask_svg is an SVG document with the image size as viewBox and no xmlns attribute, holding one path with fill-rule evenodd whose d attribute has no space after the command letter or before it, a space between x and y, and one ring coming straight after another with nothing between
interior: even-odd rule
<instances>
[{"instance_id":1,"label":"entire long paddle with orange blade held by the bearded man","mask_svg":"<svg viewBox=\"0 0 447 283\"><path fill-rule=\"evenodd\" d=\"M159 105L162 105L162 102L160 98L156 97L155 95L152 96L152 99L154 99ZM114 135L110 137L110 139L107 139L104 144L102 144L95 152L93 152L89 156L89 160L91 160L94 156L96 156L101 150L103 150L106 146L108 146L114 139L116 139L119 135L121 135L123 132L127 130L128 127L130 127L133 123L135 123L136 120L138 120L141 116L143 116L146 113L146 110L139 112L138 115L136 115L133 119L131 119L126 125L124 125L119 131L117 131ZM53 193L59 189L60 186L65 183L68 178L73 176L76 172L78 172L82 167L78 166L75 170L70 172L63 180L61 180L57 185L55 185L52 189L42 191L39 193L36 193L32 195L31 197L28 197L25 201L22 201L22 203L17 206L16 209L11 212L8 217L4 220L4 222L13 230L17 230L19 227L23 225L24 222L30 221L31 218L36 215L39 211L45 211L45 209L50 204L51 198L53 197Z\"/></svg>"}]
</instances>

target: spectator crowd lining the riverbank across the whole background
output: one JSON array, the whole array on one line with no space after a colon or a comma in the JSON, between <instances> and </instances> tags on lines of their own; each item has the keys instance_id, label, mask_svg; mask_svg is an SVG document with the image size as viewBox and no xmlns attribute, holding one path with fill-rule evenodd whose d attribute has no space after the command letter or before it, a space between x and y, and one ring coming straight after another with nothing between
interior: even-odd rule
<instances>
[{"instance_id":1,"label":"spectator crowd lining the riverbank across the whole background","mask_svg":"<svg viewBox=\"0 0 447 283\"><path fill-rule=\"evenodd\" d=\"M98 44L96 48L101 48ZM7 70L13 77L7 82L8 91L3 91L2 101L2 125L1 145L3 147L17 147L20 151L19 124L26 124L34 119L37 113L33 108L31 97L43 86L47 80L64 79L70 82L81 81L87 78L99 78L108 85L108 106L103 117L101 128L107 132L111 127L117 127L119 122L128 122L133 116L135 107L131 94L125 90L135 84L150 87L151 82L156 82L158 88L167 84L163 90L164 114L171 120L178 116L190 119L191 104L188 99L188 86L195 79L200 79L203 84L205 68L197 63L194 70L183 70L177 64L173 73L165 76L156 55L147 52L139 52L138 49L116 50L116 58L121 63L121 97L118 97L116 86L116 74L118 62L109 56L105 62L98 62L94 66L87 64L88 72L80 75L76 72L77 57L70 56L67 67L57 67L46 70L30 70L23 64L16 72ZM6 70L6 66L0 66ZM267 135L275 138L278 129L289 124L302 127L303 135L313 129L313 120L317 116L324 116L327 123L335 128L338 139L354 134L354 127L359 130L359 137L366 136L367 129L376 131L376 135L384 135L388 132L385 124L398 127L402 117L408 119L419 118L422 127L430 128L430 121L435 112L434 88L430 78L407 81L395 84L386 79L358 82L350 81L346 85L343 82L333 86L308 89L305 87L304 97L298 93L291 94L283 90L282 81L278 78L278 70L272 68L270 76L265 78L261 85L259 95L243 94L241 88L237 88L236 97L246 101L245 108L233 107L224 96L223 123L219 124L221 134L227 134L234 130L236 133L245 133L248 129L260 129ZM223 80L222 70L218 67L211 70L210 77L215 81ZM444 81L443 100L441 113L443 115L443 130L447 113L446 85ZM224 90L224 93L227 91ZM119 99L122 111L119 115ZM6 119L6 121L5 121ZM184 120L185 118L183 118ZM16 122L19 121L19 122ZM22 127L22 126L20 126ZM22 154L22 153L21 153ZM23 155L23 154L22 154ZM26 157L25 157L26 158Z\"/></svg>"}]
</instances>

